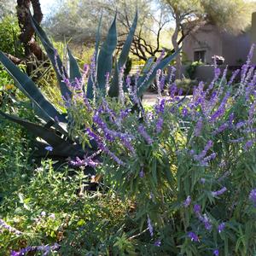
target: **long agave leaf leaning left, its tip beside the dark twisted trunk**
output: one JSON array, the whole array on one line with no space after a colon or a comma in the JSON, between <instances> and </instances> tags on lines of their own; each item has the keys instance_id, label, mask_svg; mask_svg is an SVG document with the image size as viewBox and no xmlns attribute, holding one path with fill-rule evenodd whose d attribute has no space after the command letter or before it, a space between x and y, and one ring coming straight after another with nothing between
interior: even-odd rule
<instances>
[{"instance_id":1,"label":"long agave leaf leaning left, its tip beside the dark twisted trunk","mask_svg":"<svg viewBox=\"0 0 256 256\"><path fill-rule=\"evenodd\" d=\"M44 45L44 49L47 52L47 55L49 57L49 61L52 63L52 66L55 69L55 73L58 79L58 82L60 84L61 89L61 95L66 97L71 96L71 91L67 88L67 84L65 84L62 80L63 77L67 77L67 73L65 71L65 68L63 67L61 58L59 55L55 55L55 49L54 46L50 43L49 38L46 36L44 30L41 26L38 25L38 22L33 19L32 15L32 26L35 32L38 34L38 38L40 38L42 44Z\"/></svg>"}]
</instances>

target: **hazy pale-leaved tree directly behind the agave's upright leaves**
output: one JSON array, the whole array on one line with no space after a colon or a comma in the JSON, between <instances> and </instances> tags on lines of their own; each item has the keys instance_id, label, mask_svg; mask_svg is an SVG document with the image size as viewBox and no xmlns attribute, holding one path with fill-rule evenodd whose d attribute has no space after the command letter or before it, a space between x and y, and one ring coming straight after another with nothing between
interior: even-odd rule
<instances>
[{"instance_id":1,"label":"hazy pale-leaved tree directly behind the agave's upright leaves","mask_svg":"<svg viewBox=\"0 0 256 256\"><path fill-rule=\"evenodd\" d=\"M94 44L96 25L103 14L102 38L108 31L108 26L117 11L119 47L124 43L136 9L139 11L137 32L135 34L131 52L139 59L147 60L148 56L160 53L161 33L169 22L169 17L155 9L150 0L67 0L51 19L46 23L49 32L57 40L72 38L75 44Z\"/></svg>"}]
</instances>

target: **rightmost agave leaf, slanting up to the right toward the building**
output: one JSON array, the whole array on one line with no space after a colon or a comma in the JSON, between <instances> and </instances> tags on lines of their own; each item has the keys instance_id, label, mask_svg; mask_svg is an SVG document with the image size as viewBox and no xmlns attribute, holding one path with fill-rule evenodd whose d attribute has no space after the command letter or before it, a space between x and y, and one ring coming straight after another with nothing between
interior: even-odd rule
<instances>
[{"instance_id":1,"label":"rightmost agave leaf, slanting up to the right toward the building","mask_svg":"<svg viewBox=\"0 0 256 256\"><path fill-rule=\"evenodd\" d=\"M178 49L177 52L175 52L173 55L170 55L167 58L160 61L160 63L154 68L153 73L151 73L147 81L145 81L147 74L145 74L141 79L138 80L138 88L137 88L138 96L142 96L143 93L148 89L149 85L152 84L157 70L164 69L177 56L179 52L180 52L180 49Z\"/></svg>"}]
</instances>

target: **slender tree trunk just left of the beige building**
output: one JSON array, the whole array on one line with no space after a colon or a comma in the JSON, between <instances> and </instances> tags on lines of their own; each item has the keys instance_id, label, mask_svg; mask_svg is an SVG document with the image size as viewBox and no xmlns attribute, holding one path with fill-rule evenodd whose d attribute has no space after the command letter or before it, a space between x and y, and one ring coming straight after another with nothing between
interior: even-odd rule
<instances>
[{"instance_id":1,"label":"slender tree trunk just left of the beige building","mask_svg":"<svg viewBox=\"0 0 256 256\"><path fill-rule=\"evenodd\" d=\"M180 20L180 16L179 14L175 14L175 22L176 22L176 26L175 26L175 30L172 34L172 45L175 51L178 50L178 41L177 41L177 37L178 37L178 32L180 31L180 27L181 27L181 20ZM181 79L181 69L182 69L182 61L181 61L181 55L178 54L176 57L176 78L177 79Z\"/></svg>"}]
</instances>

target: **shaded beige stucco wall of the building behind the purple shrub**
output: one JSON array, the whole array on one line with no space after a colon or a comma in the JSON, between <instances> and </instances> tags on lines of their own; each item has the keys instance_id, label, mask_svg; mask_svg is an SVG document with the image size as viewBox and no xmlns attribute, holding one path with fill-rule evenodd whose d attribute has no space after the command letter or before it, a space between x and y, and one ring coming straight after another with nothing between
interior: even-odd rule
<instances>
[{"instance_id":1,"label":"shaded beige stucco wall of the building behind the purple shrub","mask_svg":"<svg viewBox=\"0 0 256 256\"><path fill-rule=\"evenodd\" d=\"M213 25L206 25L183 41L183 60L194 61L196 50L206 50L206 64L212 64L212 55L224 56L224 64L237 66L247 59L252 43L256 43L256 13L253 13L250 32L231 35L229 32L219 32ZM256 63L256 54L253 56Z\"/></svg>"}]
</instances>

